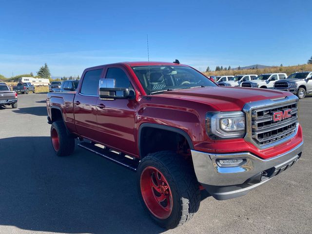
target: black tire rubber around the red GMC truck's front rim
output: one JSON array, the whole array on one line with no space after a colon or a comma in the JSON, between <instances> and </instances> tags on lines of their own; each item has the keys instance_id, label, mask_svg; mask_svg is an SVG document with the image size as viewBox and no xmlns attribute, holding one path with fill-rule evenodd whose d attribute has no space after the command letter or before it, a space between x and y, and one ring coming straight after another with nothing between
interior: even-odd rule
<instances>
[{"instance_id":1,"label":"black tire rubber around the red GMC truck's front rim","mask_svg":"<svg viewBox=\"0 0 312 234\"><path fill-rule=\"evenodd\" d=\"M173 198L171 215L160 219L147 208L141 193L141 174L146 167L155 167L168 181ZM200 190L193 163L175 152L160 151L145 156L137 168L137 190L142 206L161 227L172 229L190 220L200 205Z\"/></svg>"}]
</instances>

